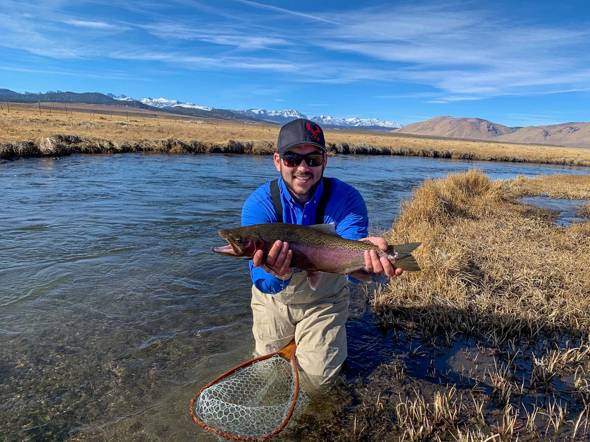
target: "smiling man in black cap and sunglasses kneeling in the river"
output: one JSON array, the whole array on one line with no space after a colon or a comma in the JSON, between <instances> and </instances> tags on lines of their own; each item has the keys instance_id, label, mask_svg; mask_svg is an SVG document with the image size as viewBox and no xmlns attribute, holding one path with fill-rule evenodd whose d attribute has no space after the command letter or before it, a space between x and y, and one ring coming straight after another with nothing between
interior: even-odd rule
<instances>
[{"instance_id":1,"label":"smiling man in black cap and sunglasses kneeling in the river","mask_svg":"<svg viewBox=\"0 0 590 442\"><path fill-rule=\"evenodd\" d=\"M343 238L368 240L386 250L383 238L367 238L367 209L360 193L340 180L323 178L327 161L324 134L316 123L299 118L281 127L274 154L280 178L248 197L242 225L335 223ZM318 384L328 384L336 379L347 355L350 295L346 285L351 278L326 273L313 290L306 272L291 268L291 256L289 244L277 241L266 262L262 250L250 261L256 351L268 354L295 339L301 370ZM365 266L369 272L387 276L402 273L374 250L365 252Z\"/></svg>"}]
</instances>

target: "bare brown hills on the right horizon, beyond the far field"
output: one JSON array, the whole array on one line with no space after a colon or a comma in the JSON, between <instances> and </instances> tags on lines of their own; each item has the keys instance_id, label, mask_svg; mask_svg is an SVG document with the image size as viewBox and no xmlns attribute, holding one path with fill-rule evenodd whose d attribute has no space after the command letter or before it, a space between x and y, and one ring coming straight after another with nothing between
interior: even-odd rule
<instances>
[{"instance_id":1,"label":"bare brown hills on the right horizon, beyond the far field","mask_svg":"<svg viewBox=\"0 0 590 442\"><path fill-rule=\"evenodd\" d=\"M435 137L493 140L506 143L555 144L590 147L590 123L561 123L550 126L507 127L481 118L436 117L395 129L395 133Z\"/></svg>"}]
</instances>

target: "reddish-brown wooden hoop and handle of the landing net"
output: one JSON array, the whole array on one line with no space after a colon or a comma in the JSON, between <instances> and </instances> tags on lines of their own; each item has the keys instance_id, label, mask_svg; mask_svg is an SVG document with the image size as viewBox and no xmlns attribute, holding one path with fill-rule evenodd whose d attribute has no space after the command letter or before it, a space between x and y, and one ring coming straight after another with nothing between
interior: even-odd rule
<instances>
[{"instance_id":1,"label":"reddish-brown wooden hoop and handle of the landing net","mask_svg":"<svg viewBox=\"0 0 590 442\"><path fill-rule=\"evenodd\" d=\"M259 441L261 442L261 441L265 441L269 437L274 436L275 434L279 433L287 425L291 416L293 415L293 411L295 410L295 404L297 402L297 396L299 395L299 371L297 371L297 364L295 363L295 358L294 358L295 350L296 350L296 345L295 345L295 341L293 340L289 344L287 344L284 348L281 348L280 350L278 350L276 352L273 352L273 353L270 353L270 354L267 354L264 356L259 356L254 359L250 359L250 361L246 361L246 362L238 365L237 367L234 367L231 370L226 371L224 374L218 376L217 378L215 378L214 380L209 382L207 385L205 385L205 387L201 388L201 390L199 390L199 392L197 394L195 394L195 396L191 399L191 404L189 406L189 413L191 414L192 420L194 420L197 424L201 425L201 427L204 428L205 430L212 431L213 433L218 434L219 436L222 436L222 437L225 437L228 439L232 439L232 440L247 440L247 441L253 441L253 442L259 442ZM237 371L240 371L244 368L250 367L250 365L254 364L255 362L266 361L266 359L270 359L270 358L277 356L277 355L280 357L283 357L285 359L289 359L289 361L291 361L291 365L293 365L293 372L295 374L295 391L293 394L293 402L291 403L291 407L289 408L289 413L287 413L287 416L283 420L283 423L281 423L276 428L276 430L272 431L271 433L265 434L264 436L261 436L261 437L239 436L237 434L225 433L225 431L221 431L221 430L217 430L217 428L209 427L209 425L205 424L204 422L199 420L198 417L195 416L194 404L195 404L196 400L198 400L201 393L203 391L207 390L207 388L211 387L211 385L217 384L217 382L219 382L227 377L230 377L232 374L234 374Z\"/></svg>"}]
</instances>

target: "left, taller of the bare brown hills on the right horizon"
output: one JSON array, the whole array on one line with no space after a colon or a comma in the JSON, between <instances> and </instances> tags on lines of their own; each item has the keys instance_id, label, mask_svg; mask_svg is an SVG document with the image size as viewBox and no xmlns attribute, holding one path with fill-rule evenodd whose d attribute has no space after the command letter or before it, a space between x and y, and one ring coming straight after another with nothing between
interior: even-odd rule
<instances>
[{"instance_id":1,"label":"left, taller of the bare brown hills on the right horizon","mask_svg":"<svg viewBox=\"0 0 590 442\"><path fill-rule=\"evenodd\" d=\"M481 118L436 117L427 121L408 124L395 129L394 132L432 135L436 137L470 138L472 140L489 140L514 131L512 127L495 124Z\"/></svg>"}]
</instances>

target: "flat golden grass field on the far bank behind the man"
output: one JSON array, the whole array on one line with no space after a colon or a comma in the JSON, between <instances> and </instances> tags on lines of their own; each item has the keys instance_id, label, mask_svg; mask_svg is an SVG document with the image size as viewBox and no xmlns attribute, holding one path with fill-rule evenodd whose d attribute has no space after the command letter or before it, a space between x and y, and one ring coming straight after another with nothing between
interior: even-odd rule
<instances>
[{"instance_id":1,"label":"flat golden grass field on the far bank behind the man","mask_svg":"<svg viewBox=\"0 0 590 442\"><path fill-rule=\"evenodd\" d=\"M45 104L48 106L49 104ZM0 158L71 153L270 154L279 126L147 114L110 115L97 108L41 115L29 106L0 112ZM130 111L132 112L132 111ZM384 154L590 166L590 149L408 136L391 132L326 130L335 154Z\"/></svg>"}]
</instances>

